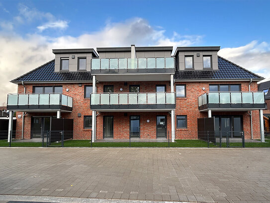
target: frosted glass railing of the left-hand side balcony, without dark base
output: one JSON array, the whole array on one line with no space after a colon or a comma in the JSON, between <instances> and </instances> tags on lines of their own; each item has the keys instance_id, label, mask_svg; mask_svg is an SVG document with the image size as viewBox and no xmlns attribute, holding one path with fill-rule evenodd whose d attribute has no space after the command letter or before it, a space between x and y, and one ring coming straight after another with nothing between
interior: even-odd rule
<instances>
[{"instance_id":1,"label":"frosted glass railing of the left-hand side balcony, without dark base","mask_svg":"<svg viewBox=\"0 0 270 203\"><path fill-rule=\"evenodd\" d=\"M8 94L8 106L22 105L62 105L73 106L73 98L62 93L44 93L44 94Z\"/></svg>"}]
</instances>

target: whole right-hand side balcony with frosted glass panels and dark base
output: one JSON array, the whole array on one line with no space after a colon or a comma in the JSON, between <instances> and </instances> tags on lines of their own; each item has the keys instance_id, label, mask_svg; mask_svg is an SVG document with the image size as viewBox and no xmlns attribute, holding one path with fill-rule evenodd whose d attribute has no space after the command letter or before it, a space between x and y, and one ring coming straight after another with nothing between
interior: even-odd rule
<instances>
[{"instance_id":1,"label":"whole right-hand side balcony with frosted glass panels and dark base","mask_svg":"<svg viewBox=\"0 0 270 203\"><path fill-rule=\"evenodd\" d=\"M199 111L266 109L264 92L207 92L198 97Z\"/></svg>"}]
</instances>

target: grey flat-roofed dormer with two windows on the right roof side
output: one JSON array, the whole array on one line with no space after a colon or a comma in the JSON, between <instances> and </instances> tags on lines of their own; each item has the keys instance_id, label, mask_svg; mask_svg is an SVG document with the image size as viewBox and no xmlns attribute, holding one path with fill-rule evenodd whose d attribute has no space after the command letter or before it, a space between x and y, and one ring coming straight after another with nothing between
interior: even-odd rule
<instances>
[{"instance_id":1,"label":"grey flat-roofed dormer with two windows on the right roof side","mask_svg":"<svg viewBox=\"0 0 270 203\"><path fill-rule=\"evenodd\" d=\"M217 52L220 46L177 47L175 52L178 70L218 70Z\"/></svg>"}]
</instances>

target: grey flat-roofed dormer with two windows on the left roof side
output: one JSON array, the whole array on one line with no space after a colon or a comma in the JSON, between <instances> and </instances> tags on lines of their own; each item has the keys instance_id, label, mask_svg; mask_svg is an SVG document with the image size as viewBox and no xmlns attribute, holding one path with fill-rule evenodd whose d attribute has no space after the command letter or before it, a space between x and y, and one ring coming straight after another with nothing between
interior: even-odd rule
<instances>
[{"instance_id":1,"label":"grey flat-roofed dormer with two windows on the left roof side","mask_svg":"<svg viewBox=\"0 0 270 203\"><path fill-rule=\"evenodd\" d=\"M91 59L98 57L94 49L53 49L55 72L91 71Z\"/></svg>"}]
</instances>

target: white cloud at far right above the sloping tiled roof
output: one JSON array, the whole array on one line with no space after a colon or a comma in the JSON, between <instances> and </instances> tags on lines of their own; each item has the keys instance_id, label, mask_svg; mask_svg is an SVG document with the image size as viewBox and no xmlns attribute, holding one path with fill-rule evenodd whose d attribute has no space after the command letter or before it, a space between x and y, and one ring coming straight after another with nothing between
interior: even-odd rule
<instances>
[{"instance_id":1,"label":"white cloud at far right above the sloping tiled roof","mask_svg":"<svg viewBox=\"0 0 270 203\"><path fill-rule=\"evenodd\" d=\"M244 46L222 48L218 55L270 80L270 44L265 41L254 40Z\"/></svg>"}]
</instances>

